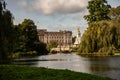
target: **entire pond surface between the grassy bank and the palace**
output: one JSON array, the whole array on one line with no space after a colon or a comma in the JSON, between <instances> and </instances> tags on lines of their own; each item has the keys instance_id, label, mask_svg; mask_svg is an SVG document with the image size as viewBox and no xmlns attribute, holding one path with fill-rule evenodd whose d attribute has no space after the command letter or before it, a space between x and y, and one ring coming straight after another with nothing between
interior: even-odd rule
<instances>
[{"instance_id":1,"label":"entire pond surface between the grassy bank and the palace","mask_svg":"<svg viewBox=\"0 0 120 80\"><path fill-rule=\"evenodd\" d=\"M14 64L107 76L120 80L120 57L82 57L76 54L53 54L15 59Z\"/></svg>"}]
</instances>

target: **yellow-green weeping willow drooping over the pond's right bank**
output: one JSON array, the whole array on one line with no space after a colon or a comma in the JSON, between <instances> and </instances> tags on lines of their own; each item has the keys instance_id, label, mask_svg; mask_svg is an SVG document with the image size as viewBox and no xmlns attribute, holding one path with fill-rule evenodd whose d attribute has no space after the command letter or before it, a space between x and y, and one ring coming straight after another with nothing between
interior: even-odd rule
<instances>
[{"instance_id":1,"label":"yellow-green weeping willow drooping over the pond's right bank","mask_svg":"<svg viewBox=\"0 0 120 80\"><path fill-rule=\"evenodd\" d=\"M118 26L113 21L91 23L82 36L79 51L80 53L111 54L112 51L120 49L119 36Z\"/></svg>"}]
</instances>

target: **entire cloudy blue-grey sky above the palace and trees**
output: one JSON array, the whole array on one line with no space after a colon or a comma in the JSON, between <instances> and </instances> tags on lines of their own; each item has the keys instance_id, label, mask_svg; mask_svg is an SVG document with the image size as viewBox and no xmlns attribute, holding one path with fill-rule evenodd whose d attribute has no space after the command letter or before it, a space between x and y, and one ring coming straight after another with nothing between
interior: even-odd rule
<instances>
[{"instance_id":1,"label":"entire cloudy blue-grey sky above the palace and trees","mask_svg":"<svg viewBox=\"0 0 120 80\"><path fill-rule=\"evenodd\" d=\"M76 35L77 28L83 34L87 21L83 16L88 14L86 7L90 0L5 0L7 9L14 17L14 24L31 19L37 29L48 31L69 30ZM107 0L112 7L120 5L120 0Z\"/></svg>"}]
</instances>

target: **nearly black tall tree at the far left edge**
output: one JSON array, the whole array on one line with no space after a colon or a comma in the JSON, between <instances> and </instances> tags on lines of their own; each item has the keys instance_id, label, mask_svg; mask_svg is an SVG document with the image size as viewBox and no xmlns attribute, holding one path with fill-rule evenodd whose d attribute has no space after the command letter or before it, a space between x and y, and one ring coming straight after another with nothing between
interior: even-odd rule
<instances>
[{"instance_id":1,"label":"nearly black tall tree at the far left edge","mask_svg":"<svg viewBox=\"0 0 120 80\"><path fill-rule=\"evenodd\" d=\"M4 0L0 0L0 63L7 63L14 47L13 17L6 9Z\"/></svg>"}]
</instances>

